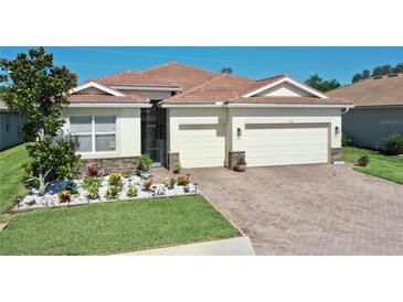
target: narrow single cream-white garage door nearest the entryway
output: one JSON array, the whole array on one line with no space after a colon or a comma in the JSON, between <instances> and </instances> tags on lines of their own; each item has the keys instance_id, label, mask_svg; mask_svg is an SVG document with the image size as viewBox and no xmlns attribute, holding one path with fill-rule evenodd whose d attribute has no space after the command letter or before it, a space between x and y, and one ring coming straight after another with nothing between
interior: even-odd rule
<instances>
[{"instance_id":1,"label":"narrow single cream-white garage door nearest the entryway","mask_svg":"<svg viewBox=\"0 0 403 302\"><path fill-rule=\"evenodd\" d=\"M180 125L179 154L183 168L223 166L224 125Z\"/></svg>"}]
</instances>

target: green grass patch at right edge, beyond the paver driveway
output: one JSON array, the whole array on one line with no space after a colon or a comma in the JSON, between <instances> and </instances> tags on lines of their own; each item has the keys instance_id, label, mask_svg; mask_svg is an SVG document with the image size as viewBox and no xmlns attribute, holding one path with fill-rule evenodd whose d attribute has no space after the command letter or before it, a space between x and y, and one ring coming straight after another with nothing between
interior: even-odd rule
<instances>
[{"instance_id":1,"label":"green grass patch at right edge, beyond the paver driveway","mask_svg":"<svg viewBox=\"0 0 403 302\"><path fill-rule=\"evenodd\" d=\"M356 171L403 184L403 159L356 147L343 147L342 153L344 161L354 163L360 155L367 154L370 163L356 166Z\"/></svg>"}]
</instances>

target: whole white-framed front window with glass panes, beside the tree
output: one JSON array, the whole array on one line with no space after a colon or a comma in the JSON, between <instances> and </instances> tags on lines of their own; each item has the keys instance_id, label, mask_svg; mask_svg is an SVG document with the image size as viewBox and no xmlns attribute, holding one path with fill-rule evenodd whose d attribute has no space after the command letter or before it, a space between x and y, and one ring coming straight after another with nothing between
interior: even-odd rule
<instances>
[{"instance_id":1,"label":"whole white-framed front window with glass panes, beside the tree","mask_svg":"<svg viewBox=\"0 0 403 302\"><path fill-rule=\"evenodd\" d=\"M83 153L116 151L116 117L70 117L70 131L75 140L75 150Z\"/></svg>"}]
</instances>

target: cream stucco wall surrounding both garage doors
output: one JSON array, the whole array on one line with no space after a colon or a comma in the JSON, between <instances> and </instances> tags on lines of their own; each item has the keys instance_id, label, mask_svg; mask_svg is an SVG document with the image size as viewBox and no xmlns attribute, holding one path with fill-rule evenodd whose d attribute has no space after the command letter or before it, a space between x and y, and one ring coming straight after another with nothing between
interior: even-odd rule
<instances>
[{"instance_id":1,"label":"cream stucco wall surrounding both garage doors","mask_svg":"<svg viewBox=\"0 0 403 302\"><path fill-rule=\"evenodd\" d=\"M341 109L338 108L169 108L167 109L168 152L178 148L180 125L216 125L226 127L226 151L244 151L242 133L246 123L321 123L329 126L330 148L341 147ZM339 127L336 134L335 128ZM206 145L206 148L209 148ZM227 159L226 159L227 160Z\"/></svg>"}]
</instances>

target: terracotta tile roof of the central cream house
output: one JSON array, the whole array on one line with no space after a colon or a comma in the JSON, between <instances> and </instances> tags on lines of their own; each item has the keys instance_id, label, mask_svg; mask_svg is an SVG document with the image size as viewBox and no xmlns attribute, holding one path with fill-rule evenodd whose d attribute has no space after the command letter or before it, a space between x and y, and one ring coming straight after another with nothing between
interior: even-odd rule
<instances>
[{"instance_id":1,"label":"terracotta tile roof of the central cream house","mask_svg":"<svg viewBox=\"0 0 403 302\"><path fill-rule=\"evenodd\" d=\"M241 77L233 74L219 74L201 68L188 66L179 63L168 63L151 67L139 72L123 72L110 76L89 79L104 86L170 86L181 88L181 94L165 99L162 104L183 104L183 103L215 103L215 101L233 101L233 103L301 103L301 104L351 104L344 99L332 98L303 98L303 97L251 97L242 96L264 87L271 83L277 82L288 75L277 75L259 80L253 80L247 77ZM72 96L72 101L149 101L139 96L136 99L130 97L109 97L108 96ZM95 99L95 100L93 100ZM332 101L332 103L330 103Z\"/></svg>"}]
</instances>

